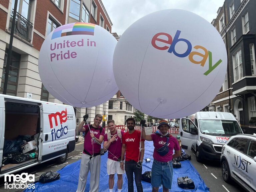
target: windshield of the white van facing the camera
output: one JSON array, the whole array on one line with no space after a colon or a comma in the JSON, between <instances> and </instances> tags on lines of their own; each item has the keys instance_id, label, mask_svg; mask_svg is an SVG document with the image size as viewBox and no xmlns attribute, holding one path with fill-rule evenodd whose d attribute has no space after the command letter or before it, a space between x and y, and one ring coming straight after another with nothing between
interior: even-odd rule
<instances>
[{"instance_id":1,"label":"windshield of the white van facing the camera","mask_svg":"<svg viewBox=\"0 0 256 192\"><path fill-rule=\"evenodd\" d=\"M236 135L242 133L237 121L229 120L200 119L199 128L204 134Z\"/></svg>"}]
</instances>

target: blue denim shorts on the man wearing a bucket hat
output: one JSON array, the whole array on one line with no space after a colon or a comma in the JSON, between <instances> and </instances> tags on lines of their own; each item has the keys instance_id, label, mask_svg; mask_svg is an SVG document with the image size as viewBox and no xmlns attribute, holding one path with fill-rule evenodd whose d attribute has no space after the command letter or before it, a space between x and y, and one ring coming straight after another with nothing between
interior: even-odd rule
<instances>
[{"instance_id":1,"label":"blue denim shorts on the man wearing a bucket hat","mask_svg":"<svg viewBox=\"0 0 256 192\"><path fill-rule=\"evenodd\" d=\"M172 188L173 167L172 161L160 162L154 159L151 170L152 187L163 185L167 189Z\"/></svg>"}]
</instances>

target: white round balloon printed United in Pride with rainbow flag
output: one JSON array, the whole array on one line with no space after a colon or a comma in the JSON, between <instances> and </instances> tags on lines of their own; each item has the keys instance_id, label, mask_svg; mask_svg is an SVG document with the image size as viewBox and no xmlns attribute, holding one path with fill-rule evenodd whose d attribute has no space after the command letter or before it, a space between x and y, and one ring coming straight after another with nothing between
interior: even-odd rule
<instances>
[{"instance_id":1,"label":"white round balloon printed United in Pride with rainbow flag","mask_svg":"<svg viewBox=\"0 0 256 192\"><path fill-rule=\"evenodd\" d=\"M70 23L45 39L38 68L45 88L60 101L75 107L92 107L118 91L113 74L117 40L91 23Z\"/></svg>"}]
</instances>

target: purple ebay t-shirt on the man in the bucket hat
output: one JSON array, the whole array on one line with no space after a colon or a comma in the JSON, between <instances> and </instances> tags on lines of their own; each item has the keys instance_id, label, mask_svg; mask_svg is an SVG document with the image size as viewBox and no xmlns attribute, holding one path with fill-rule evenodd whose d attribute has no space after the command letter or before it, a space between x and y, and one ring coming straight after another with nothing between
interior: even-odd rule
<instances>
[{"instance_id":1,"label":"purple ebay t-shirt on the man in the bucket hat","mask_svg":"<svg viewBox=\"0 0 256 192\"><path fill-rule=\"evenodd\" d=\"M173 149L175 151L180 150L180 146L179 146L177 139L170 135L169 141L168 141L169 152L166 155L161 156L161 155L159 155L159 153L156 150L159 149L160 147L162 147L166 143L167 138L161 137L160 135L155 134L155 133L151 134L151 138L153 140L154 147L155 147L154 153L153 153L153 158L156 159L157 161L160 161L160 162L171 161Z\"/></svg>"}]
</instances>

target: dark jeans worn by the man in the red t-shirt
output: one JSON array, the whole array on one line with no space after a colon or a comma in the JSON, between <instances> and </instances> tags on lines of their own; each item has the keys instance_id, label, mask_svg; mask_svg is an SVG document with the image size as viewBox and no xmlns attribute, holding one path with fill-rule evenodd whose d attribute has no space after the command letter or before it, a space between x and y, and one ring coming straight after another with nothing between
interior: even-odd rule
<instances>
[{"instance_id":1,"label":"dark jeans worn by the man in the red t-shirt","mask_svg":"<svg viewBox=\"0 0 256 192\"><path fill-rule=\"evenodd\" d=\"M141 184L141 174L142 167L136 167L137 162L134 160L125 161L124 170L128 180L128 192L133 192L133 173L134 180L137 187L137 192L143 192L142 184Z\"/></svg>"}]
</instances>

